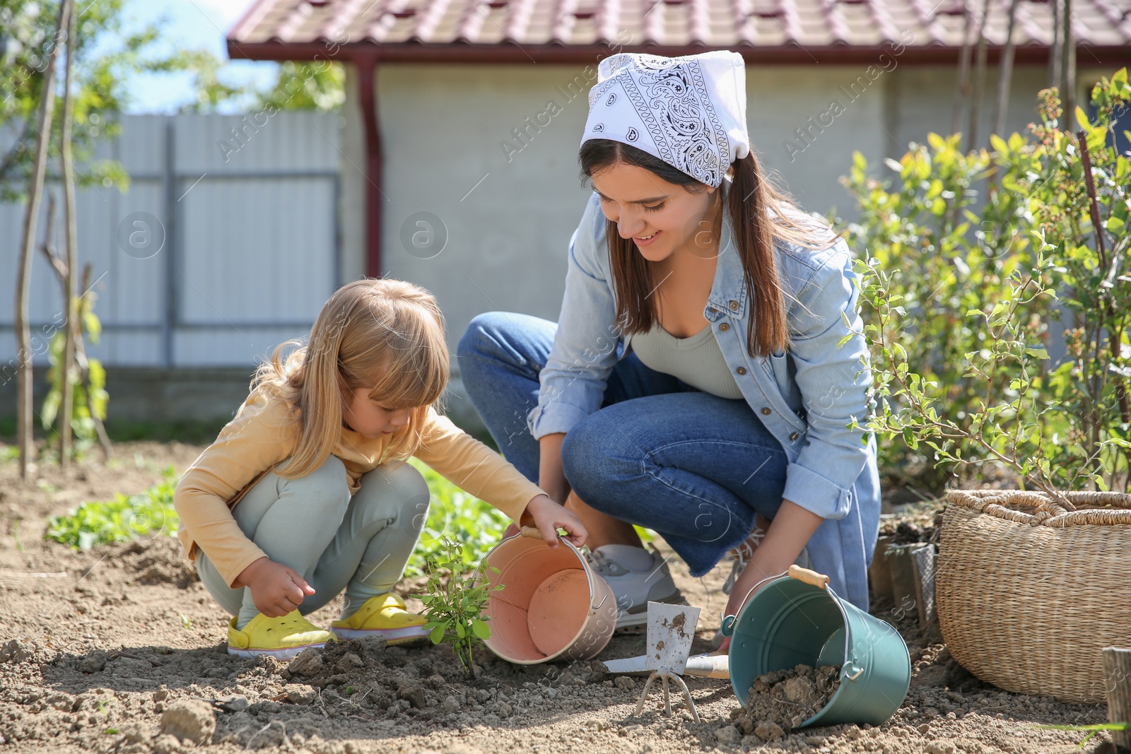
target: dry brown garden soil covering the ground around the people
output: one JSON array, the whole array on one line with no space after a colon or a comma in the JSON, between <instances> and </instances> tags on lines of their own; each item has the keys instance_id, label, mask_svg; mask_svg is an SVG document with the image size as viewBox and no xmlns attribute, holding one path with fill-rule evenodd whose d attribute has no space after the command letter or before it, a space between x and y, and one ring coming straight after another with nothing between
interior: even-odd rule
<instances>
[{"instance_id":1,"label":"dry brown garden soil covering the ground around the people","mask_svg":"<svg viewBox=\"0 0 1131 754\"><path fill-rule=\"evenodd\" d=\"M873 613L900 630L913 660L903 707L877 727L787 733L778 722L783 735L768 742L757 723L746 733L743 713L732 719L740 703L726 681L687 678L702 720L694 723L674 695L671 717L656 693L637 716L644 679L604 675L594 661L513 666L481 649L478 676L468 681L447 645L344 642L290 665L231 657L227 616L181 560L175 539L87 552L43 540L49 515L84 500L140 492L167 465L183 471L200 450L121 443L109 463L94 453L66 475L42 467L26 482L15 462L0 462L0 749L1068 754L1083 734L1038 726L1106 721L1103 705L1061 704L983 684L946 647L918 636L910 616L897 621L883 605ZM679 558L671 567L688 600L703 608L692 651L709 651L729 566L702 579L691 578ZM417 601L409 605L420 609ZM337 609L334 603L312 619L327 624ZM601 659L642 652L642 635L618 635Z\"/></svg>"}]
</instances>

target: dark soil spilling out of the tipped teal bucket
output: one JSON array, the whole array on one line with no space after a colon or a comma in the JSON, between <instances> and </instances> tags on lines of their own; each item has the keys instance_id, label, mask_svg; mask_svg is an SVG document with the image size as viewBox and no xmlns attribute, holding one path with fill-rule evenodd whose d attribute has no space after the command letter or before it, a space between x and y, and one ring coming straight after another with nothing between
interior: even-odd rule
<instances>
[{"instance_id":1,"label":"dark soil spilling out of the tipped teal bucket","mask_svg":"<svg viewBox=\"0 0 1131 754\"><path fill-rule=\"evenodd\" d=\"M829 703L840 687L840 666L798 665L754 678L743 708L733 710L734 725L762 740L775 740L801 728Z\"/></svg>"}]
</instances>

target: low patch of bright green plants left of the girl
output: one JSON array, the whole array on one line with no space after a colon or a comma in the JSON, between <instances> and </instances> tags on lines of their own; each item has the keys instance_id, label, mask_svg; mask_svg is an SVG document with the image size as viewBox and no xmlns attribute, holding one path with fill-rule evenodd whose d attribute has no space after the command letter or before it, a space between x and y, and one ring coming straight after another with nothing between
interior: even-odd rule
<instances>
[{"instance_id":1,"label":"low patch of bright green plants left of the girl","mask_svg":"<svg viewBox=\"0 0 1131 754\"><path fill-rule=\"evenodd\" d=\"M162 480L137 495L119 493L113 500L90 501L64 515L48 520L45 539L75 549L89 549L110 541L129 541L146 535L176 531L180 521L173 509L176 471L162 471Z\"/></svg>"}]
</instances>

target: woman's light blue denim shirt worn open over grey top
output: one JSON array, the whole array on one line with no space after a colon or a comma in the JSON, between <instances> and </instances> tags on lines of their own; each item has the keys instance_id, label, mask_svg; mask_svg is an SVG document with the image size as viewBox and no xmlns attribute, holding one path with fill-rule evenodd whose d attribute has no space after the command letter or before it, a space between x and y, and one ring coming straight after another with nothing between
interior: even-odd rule
<instances>
[{"instance_id":1,"label":"woman's light blue denim shirt worn open over grey top","mask_svg":"<svg viewBox=\"0 0 1131 754\"><path fill-rule=\"evenodd\" d=\"M728 183L724 182L725 187ZM725 199L725 193L724 193ZM826 521L808 544L813 567L849 601L867 606L867 564L879 529L880 486L871 413L871 372L857 312L858 289L845 241L812 250L775 242L792 345L751 357L751 305L724 200L719 255L703 318L750 409L785 449L783 497ZM838 345L847 338L846 343ZM616 327L605 217L594 193L569 244L566 295L558 332L542 370L538 405L527 417L535 437L567 432L596 411L630 335ZM863 359L863 361L862 361Z\"/></svg>"}]
</instances>

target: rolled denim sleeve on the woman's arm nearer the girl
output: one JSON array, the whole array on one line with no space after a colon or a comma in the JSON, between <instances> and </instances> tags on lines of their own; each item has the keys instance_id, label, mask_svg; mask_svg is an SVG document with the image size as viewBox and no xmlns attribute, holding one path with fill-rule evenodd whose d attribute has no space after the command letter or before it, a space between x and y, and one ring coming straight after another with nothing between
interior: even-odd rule
<instances>
[{"instance_id":1,"label":"rolled denim sleeve on the woman's arm nearer the girl","mask_svg":"<svg viewBox=\"0 0 1131 754\"><path fill-rule=\"evenodd\" d=\"M616 305L598 254L607 255L605 219L597 194L586 206L569 243L566 295L558 332L539 373L538 404L527 415L535 439L568 432L601 408L616 363Z\"/></svg>"}]
</instances>

